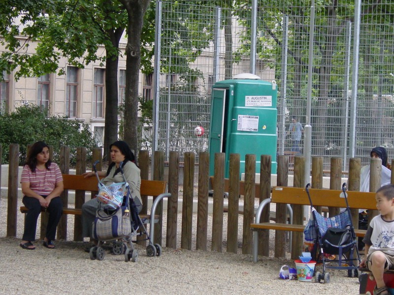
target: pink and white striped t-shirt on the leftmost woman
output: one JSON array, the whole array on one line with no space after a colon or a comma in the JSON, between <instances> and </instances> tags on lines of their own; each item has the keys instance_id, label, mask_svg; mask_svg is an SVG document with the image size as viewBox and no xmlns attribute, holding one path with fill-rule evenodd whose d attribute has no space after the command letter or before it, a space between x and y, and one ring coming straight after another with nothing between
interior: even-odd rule
<instances>
[{"instance_id":1,"label":"pink and white striped t-shirt on the leftmost woman","mask_svg":"<svg viewBox=\"0 0 394 295\"><path fill-rule=\"evenodd\" d=\"M36 168L35 173L32 173L29 166L25 165L22 170L21 183L30 182L33 192L47 196L55 189L57 182L63 181L62 172L56 163L52 162L49 169L38 170Z\"/></svg>"}]
</instances>

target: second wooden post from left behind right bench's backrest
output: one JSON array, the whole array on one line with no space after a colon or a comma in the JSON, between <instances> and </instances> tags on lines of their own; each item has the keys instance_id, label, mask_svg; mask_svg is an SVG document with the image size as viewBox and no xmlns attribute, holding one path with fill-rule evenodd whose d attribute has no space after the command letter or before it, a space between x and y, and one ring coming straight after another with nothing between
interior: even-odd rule
<instances>
[{"instance_id":1,"label":"second wooden post from left behind right bench's backrest","mask_svg":"<svg viewBox=\"0 0 394 295\"><path fill-rule=\"evenodd\" d=\"M294 187L303 187L305 183L305 157L294 157ZM304 224L304 206L293 205L293 224ZM292 238L292 259L298 259L303 251L303 233L294 232Z\"/></svg>"}]
</instances>

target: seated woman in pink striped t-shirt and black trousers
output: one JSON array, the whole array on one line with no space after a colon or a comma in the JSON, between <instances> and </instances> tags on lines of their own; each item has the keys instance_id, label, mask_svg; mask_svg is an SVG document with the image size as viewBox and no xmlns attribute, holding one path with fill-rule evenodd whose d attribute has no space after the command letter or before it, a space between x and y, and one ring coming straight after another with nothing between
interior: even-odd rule
<instances>
[{"instance_id":1,"label":"seated woman in pink striped t-shirt and black trousers","mask_svg":"<svg viewBox=\"0 0 394 295\"><path fill-rule=\"evenodd\" d=\"M49 158L49 148L42 142L36 142L29 149L25 166L21 175L23 205L28 208L25 216L25 227L22 242L23 249L34 250L37 218L44 209L49 213L43 245L49 249L55 248L53 242L56 228L63 212L60 194L63 192L63 177L59 166Z\"/></svg>"}]
</instances>

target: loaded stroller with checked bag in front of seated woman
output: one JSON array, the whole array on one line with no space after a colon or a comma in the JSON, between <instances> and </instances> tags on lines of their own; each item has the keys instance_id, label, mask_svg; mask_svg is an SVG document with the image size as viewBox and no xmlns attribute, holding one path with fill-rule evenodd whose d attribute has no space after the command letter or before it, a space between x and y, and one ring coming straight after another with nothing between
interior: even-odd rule
<instances>
[{"instance_id":1,"label":"loaded stroller with checked bag in front of seated woman","mask_svg":"<svg viewBox=\"0 0 394 295\"><path fill-rule=\"evenodd\" d=\"M96 161L93 169L96 176ZM139 235L146 235L146 240L149 240L146 252L149 257L160 256L162 253L159 244L153 244L148 232L137 214L137 208L132 198L132 190L123 174L122 162L119 165L120 173L123 176L124 182L113 183L105 186L99 179L99 207L96 212L96 218L93 223L93 237L98 240L98 245L90 249L90 259L103 260L104 249L103 243L106 241L113 241L112 253L114 255L125 255L125 261L136 262L138 260L138 250L133 248L132 237L138 234L138 229L141 229ZM154 255L150 255L153 253Z\"/></svg>"}]
</instances>

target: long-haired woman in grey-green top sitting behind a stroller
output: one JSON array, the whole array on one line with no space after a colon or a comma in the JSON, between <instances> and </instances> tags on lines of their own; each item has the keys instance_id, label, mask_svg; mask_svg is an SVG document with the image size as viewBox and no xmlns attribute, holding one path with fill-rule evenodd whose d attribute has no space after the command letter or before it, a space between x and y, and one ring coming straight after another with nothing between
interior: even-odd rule
<instances>
[{"instance_id":1,"label":"long-haired woman in grey-green top sitting behind a stroller","mask_svg":"<svg viewBox=\"0 0 394 295\"><path fill-rule=\"evenodd\" d=\"M127 182L130 185L134 203L137 208L137 213L142 209L140 186L141 177L140 170L135 165L135 157L132 153L128 144L124 141L116 141L109 146L111 155L111 164L108 167L107 172L99 171L99 176L105 176L101 179L101 183L109 185L111 183L123 182L124 178L120 172L119 165L121 162L123 173L126 177ZM93 171L83 174L85 177L93 177L95 173ZM96 211L99 207L99 201L95 198L82 205L82 237L90 237L93 243L96 245L97 241L93 239L93 222L96 217Z\"/></svg>"}]
</instances>

